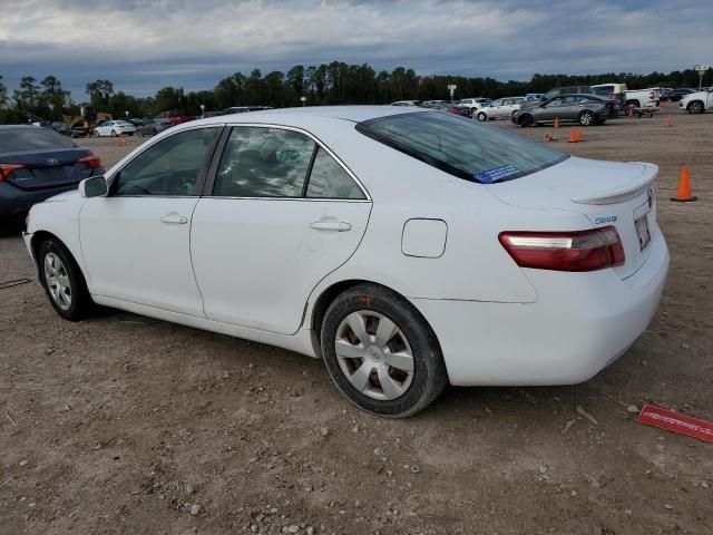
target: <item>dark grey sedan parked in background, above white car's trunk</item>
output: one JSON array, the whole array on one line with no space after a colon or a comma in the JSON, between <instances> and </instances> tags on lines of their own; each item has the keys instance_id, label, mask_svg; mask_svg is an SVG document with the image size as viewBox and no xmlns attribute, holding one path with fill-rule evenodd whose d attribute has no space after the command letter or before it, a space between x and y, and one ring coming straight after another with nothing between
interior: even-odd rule
<instances>
[{"instance_id":1,"label":"dark grey sedan parked in background, above white car's trunk","mask_svg":"<svg viewBox=\"0 0 713 535\"><path fill-rule=\"evenodd\" d=\"M527 127L559 119L582 126L603 125L608 116L607 101L594 95L563 95L544 103L525 103L512 115L512 123Z\"/></svg>"}]
</instances>

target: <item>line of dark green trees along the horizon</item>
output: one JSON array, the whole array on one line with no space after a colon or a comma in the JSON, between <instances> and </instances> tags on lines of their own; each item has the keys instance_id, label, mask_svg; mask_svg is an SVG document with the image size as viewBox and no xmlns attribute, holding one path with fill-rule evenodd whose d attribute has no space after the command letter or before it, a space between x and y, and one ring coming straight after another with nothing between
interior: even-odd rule
<instances>
[{"instance_id":1,"label":"line of dark green trees along the horizon","mask_svg":"<svg viewBox=\"0 0 713 535\"><path fill-rule=\"evenodd\" d=\"M706 74L710 78L710 71ZM116 91L108 79L86 85L85 94L75 101L61 81L53 75L42 79L26 76L19 88L10 95L0 75L0 123L25 123L30 117L42 120L62 120L62 116L79 115L79 105L91 105L97 111L114 117L155 116L160 111L179 110L185 115L199 115L231 106L306 106L336 104L389 104L394 100L448 99L448 85L455 84L456 98L525 95L545 93L553 87L595 85L608 81L624 82L629 89L646 87L697 87L699 75L692 69L683 71L607 72L602 75L534 75L528 81L499 81L489 77L419 76L413 69L397 67L392 71L377 71L368 64L348 65L332 61L320 66L296 65L287 72L274 70L265 75L260 69L248 75L235 72L219 80L213 89L185 91L182 87L164 87L152 97L135 97ZM705 80L707 84L710 81Z\"/></svg>"}]
</instances>

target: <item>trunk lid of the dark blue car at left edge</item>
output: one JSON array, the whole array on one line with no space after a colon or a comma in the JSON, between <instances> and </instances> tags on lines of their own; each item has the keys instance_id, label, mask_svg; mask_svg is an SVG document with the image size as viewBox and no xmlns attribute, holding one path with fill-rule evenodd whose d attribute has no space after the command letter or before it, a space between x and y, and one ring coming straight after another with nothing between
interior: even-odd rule
<instances>
[{"instance_id":1,"label":"trunk lid of the dark blue car at left edge","mask_svg":"<svg viewBox=\"0 0 713 535\"><path fill-rule=\"evenodd\" d=\"M7 181L26 191L78 184L91 176L92 168L79 158L91 155L87 148L25 150L3 154L3 163L21 164L25 167L10 173Z\"/></svg>"}]
</instances>

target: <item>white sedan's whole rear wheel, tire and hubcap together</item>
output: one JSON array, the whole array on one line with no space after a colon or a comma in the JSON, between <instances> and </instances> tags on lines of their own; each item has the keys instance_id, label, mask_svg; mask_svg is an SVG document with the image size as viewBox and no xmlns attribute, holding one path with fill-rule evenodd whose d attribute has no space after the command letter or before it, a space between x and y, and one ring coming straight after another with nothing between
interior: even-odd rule
<instances>
[{"instance_id":1,"label":"white sedan's whole rear wheel, tire and hubcap together","mask_svg":"<svg viewBox=\"0 0 713 535\"><path fill-rule=\"evenodd\" d=\"M448 383L436 334L409 301L383 286L340 294L324 315L321 346L336 387L369 412L414 415Z\"/></svg>"}]
</instances>

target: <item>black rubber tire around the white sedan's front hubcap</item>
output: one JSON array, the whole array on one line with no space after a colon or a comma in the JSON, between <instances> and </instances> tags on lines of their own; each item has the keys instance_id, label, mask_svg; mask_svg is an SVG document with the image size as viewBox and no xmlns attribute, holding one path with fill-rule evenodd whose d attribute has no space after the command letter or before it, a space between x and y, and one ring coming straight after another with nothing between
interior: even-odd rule
<instances>
[{"instance_id":1,"label":"black rubber tire around the white sedan's front hubcap","mask_svg":"<svg viewBox=\"0 0 713 535\"><path fill-rule=\"evenodd\" d=\"M52 296L52 291L47 282L45 262L49 254L53 254L61 261L62 270L66 274L66 278L69 281L69 293L70 304L68 308L62 308L59 305L57 300ZM65 247L65 245L57 240L56 237L48 237L40 243L37 254L37 263L39 266L39 275L40 282L45 288L45 292L47 293L47 298L49 302L55 308L57 313L61 315L64 319L69 321L79 321L86 318L94 307L94 302L89 295L89 290L87 290L87 283L81 273L81 270L77 265L71 253ZM67 293L65 293L67 295Z\"/></svg>"}]
</instances>

